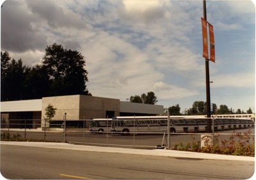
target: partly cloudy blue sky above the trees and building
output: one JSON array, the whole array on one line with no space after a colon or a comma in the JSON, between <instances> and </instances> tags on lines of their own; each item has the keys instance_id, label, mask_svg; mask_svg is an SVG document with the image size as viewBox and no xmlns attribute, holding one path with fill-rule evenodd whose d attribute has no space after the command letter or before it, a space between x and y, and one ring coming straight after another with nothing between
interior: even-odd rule
<instances>
[{"instance_id":1,"label":"partly cloudy blue sky above the trees and building","mask_svg":"<svg viewBox=\"0 0 256 180\"><path fill-rule=\"evenodd\" d=\"M153 91L157 105L206 101L202 1L4 1L1 51L40 64L53 43L85 57L93 96L126 101ZM211 103L255 112L255 4L206 1L216 63Z\"/></svg>"}]
</instances>

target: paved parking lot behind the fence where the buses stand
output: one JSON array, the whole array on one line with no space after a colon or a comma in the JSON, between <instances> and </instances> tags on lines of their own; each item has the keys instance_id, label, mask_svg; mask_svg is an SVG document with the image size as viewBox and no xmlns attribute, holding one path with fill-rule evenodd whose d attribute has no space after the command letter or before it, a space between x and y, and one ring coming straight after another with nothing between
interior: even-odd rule
<instances>
[{"instance_id":1,"label":"paved parking lot behind the fence where the buses stand","mask_svg":"<svg viewBox=\"0 0 256 180\"><path fill-rule=\"evenodd\" d=\"M8 131L2 129L3 131ZM11 129L10 134L19 133L21 137L25 137L24 129ZM225 130L216 131L214 134L219 140L229 139L233 134L235 139L236 133L246 133L250 131L250 140L254 139L255 128L236 129L236 130ZM179 142L191 142L193 140L200 141L202 133L172 133L170 135L170 147L174 147ZM63 131L36 131L26 130L27 139L45 139L45 140L58 140L59 142L64 141ZM132 147L142 149L154 149L156 146L162 146L167 144L167 135L163 133L131 133L130 135L120 135L117 133L90 133L88 130L81 129L79 131L67 129L66 131L66 142L75 144L87 144L94 146L116 146L116 147Z\"/></svg>"}]
</instances>

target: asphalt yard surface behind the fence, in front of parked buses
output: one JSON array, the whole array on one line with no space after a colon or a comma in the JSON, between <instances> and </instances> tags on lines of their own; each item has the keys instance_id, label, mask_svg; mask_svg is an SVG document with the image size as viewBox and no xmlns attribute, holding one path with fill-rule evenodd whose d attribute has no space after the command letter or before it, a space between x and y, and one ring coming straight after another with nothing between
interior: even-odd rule
<instances>
[{"instance_id":1,"label":"asphalt yard surface behind the fence, in front of parked buses","mask_svg":"<svg viewBox=\"0 0 256 180\"><path fill-rule=\"evenodd\" d=\"M248 129L238 129L236 133L241 132L244 133L248 130L252 130L254 133L254 128ZM227 131L219 131L219 133L233 133L234 130L227 130ZM11 131L11 133L19 133L24 137L24 131ZM230 135L220 135L221 139L229 139ZM251 140L254 135L251 135ZM38 132L26 132L26 138L33 138L33 139L44 139L44 131ZM167 138L167 135L166 135ZM191 142L192 140L200 140L200 134L191 134L191 135L171 135L170 136L170 143L171 147L173 148L176 143L179 142ZM49 132L46 133L47 140L59 140L63 142L63 133L62 132ZM82 131L67 131L66 140L68 142L75 142L75 143L85 143L90 145L98 145L100 146L119 146L119 147L136 147L136 148L143 148L143 149L154 149L157 145L161 145L163 142L163 134L162 135L146 135L146 134L139 134L133 136L132 134L129 136L122 136L118 134L96 134L96 133L88 133ZM164 144L166 144L166 139L164 139Z\"/></svg>"}]
</instances>

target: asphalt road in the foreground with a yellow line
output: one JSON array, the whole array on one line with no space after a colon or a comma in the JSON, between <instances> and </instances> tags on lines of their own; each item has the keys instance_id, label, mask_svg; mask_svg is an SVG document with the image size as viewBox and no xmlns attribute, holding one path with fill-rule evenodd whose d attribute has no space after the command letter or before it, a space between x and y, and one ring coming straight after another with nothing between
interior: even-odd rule
<instances>
[{"instance_id":1,"label":"asphalt road in the foreground with a yellow line","mask_svg":"<svg viewBox=\"0 0 256 180\"><path fill-rule=\"evenodd\" d=\"M248 179L254 173L254 162L2 144L1 173L7 179Z\"/></svg>"}]
</instances>

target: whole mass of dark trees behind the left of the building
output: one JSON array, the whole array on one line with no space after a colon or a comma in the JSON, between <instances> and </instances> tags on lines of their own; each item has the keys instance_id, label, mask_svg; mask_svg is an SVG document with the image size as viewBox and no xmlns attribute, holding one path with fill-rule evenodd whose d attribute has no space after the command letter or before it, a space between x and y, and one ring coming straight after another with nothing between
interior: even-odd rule
<instances>
[{"instance_id":1,"label":"whole mass of dark trees behind the left of the building","mask_svg":"<svg viewBox=\"0 0 256 180\"><path fill-rule=\"evenodd\" d=\"M29 100L72 94L92 95L86 88L85 59L76 50L56 43L47 46L41 64L29 67L22 59L1 52L1 101Z\"/></svg>"}]
</instances>

